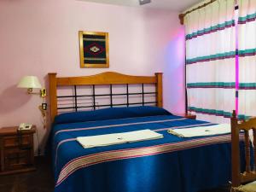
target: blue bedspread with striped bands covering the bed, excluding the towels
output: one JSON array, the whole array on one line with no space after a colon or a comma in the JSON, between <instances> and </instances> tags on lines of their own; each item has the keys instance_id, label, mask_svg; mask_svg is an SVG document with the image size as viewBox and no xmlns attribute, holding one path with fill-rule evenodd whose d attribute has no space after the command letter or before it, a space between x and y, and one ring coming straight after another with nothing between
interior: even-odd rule
<instances>
[{"instance_id":1,"label":"blue bedspread with striped bands covering the bed, excluding the towels","mask_svg":"<svg viewBox=\"0 0 256 192\"><path fill-rule=\"evenodd\" d=\"M55 124L55 192L196 192L230 181L230 135L180 138L169 128L210 123L175 115ZM76 137L150 129L164 138L83 148Z\"/></svg>"}]
</instances>

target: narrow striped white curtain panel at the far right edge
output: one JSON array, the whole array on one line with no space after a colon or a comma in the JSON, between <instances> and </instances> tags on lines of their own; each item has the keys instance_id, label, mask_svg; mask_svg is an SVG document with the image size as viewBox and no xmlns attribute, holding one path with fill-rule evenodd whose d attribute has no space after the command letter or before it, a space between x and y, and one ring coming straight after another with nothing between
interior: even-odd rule
<instances>
[{"instance_id":1,"label":"narrow striped white curtain panel at the far right edge","mask_svg":"<svg viewBox=\"0 0 256 192\"><path fill-rule=\"evenodd\" d=\"M256 115L256 0L239 0L239 108L238 117Z\"/></svg>"}]
</instances>

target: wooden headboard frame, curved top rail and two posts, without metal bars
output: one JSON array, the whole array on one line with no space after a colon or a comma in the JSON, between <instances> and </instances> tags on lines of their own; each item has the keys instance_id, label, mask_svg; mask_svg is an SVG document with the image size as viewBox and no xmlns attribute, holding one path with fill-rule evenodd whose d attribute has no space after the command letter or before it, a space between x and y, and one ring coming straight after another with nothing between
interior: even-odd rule
<instances>
[{"instance_id":1,"label":"wooden headboard frame, curved top rail and two posts, without metal bars","mask_svg":"<svg viewBox=\"0 0 256 192\"><path fill-rule=\"evenodd\" d=\"M83 77L57 77L57 73L49 76L49 108L51 122L57 115L57 87L74 85L112 85L112 84L155 84L156 106L162 108L162 73L154 76L131 76L120 73L106 72Z\"/></svg>"}]
</instances>

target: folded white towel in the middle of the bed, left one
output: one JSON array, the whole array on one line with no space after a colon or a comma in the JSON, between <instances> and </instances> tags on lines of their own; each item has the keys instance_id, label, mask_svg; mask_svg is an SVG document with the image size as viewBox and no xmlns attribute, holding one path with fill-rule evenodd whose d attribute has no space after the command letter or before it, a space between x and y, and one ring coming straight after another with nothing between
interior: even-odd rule
<instances>
[{"instance_id":1,"label":"folded white towel in the middle of the bed, left one","mask_svg":"<svg viewBox=\"0 0 256 192\"><path fill-rule=\"evenodd\" d=\"M145 140L159 139L162 137L163 135L160 133L151 130L141 130L90 137L77 137L77 141L84 148L94 148L113 144L141 142Z\"/></svg>"}]
</instances>

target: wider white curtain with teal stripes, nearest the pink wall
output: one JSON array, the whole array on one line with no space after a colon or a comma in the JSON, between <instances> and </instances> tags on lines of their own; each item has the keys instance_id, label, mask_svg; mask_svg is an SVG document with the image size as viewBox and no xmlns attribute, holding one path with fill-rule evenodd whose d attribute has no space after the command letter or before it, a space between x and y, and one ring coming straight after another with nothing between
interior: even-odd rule
<instances>
[{"instance_id":1,"label":"wider white curtain with teal stripes, nearest the pink wall","mask_svg":"<svg viewBox=\"0 0 256 192\"><path fill-rule=\"evenodd\" d=\"M218 0L184 18L188 110L230 122L236 108L235 0Z\"/></svg>"}]
</instances>

